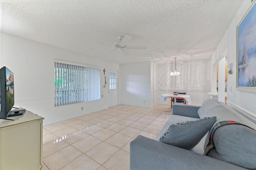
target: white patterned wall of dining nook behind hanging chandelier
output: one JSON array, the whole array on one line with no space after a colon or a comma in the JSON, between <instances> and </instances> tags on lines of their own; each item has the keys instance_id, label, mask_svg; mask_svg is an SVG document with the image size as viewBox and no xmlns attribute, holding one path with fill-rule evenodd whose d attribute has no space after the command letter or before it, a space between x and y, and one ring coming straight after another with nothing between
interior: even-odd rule
<instances>
[{"instance_id":1,"label":"white patterned wall of dining nook behind hanging chandelier","mask_svg":"<svg viewBox=\"0 0 256 170\"><path fill-rule=\"evenodd\" d=\"M181 71L181 76L170 77L174 70L174 62L160 61L154 63L154 104L160 103L164 93L186 92L191 97L192 105L202 105L204 99L210 98L210 59L194 61L178 61L176 69ZM170 105L170 99L163 104Z\"/></svg>"}]
</instances>

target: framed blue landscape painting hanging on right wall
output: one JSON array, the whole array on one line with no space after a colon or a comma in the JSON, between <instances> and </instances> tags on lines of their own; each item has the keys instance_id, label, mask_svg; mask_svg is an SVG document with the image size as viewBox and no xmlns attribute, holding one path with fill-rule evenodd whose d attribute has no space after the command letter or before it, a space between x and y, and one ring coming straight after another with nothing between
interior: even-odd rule
<instances>
[{"instance_id":1,"label":"framed blue landscape painting hanging on right wall","mask_svg":"<svg viewBox=\"0 0 256 170\"><path fill-rule=\"evenodd\" d=\"M236 28L236 88L256 93L256 1Z\"/></svg>"}]
</instances>

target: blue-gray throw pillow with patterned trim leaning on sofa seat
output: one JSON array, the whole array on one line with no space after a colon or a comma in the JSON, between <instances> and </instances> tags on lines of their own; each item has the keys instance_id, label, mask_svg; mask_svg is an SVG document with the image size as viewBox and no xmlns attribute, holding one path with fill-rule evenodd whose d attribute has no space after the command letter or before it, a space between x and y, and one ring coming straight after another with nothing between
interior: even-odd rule
<instances>
[{"instance_id":1,"label":"blue-gray throw pillow with patterned trim leaning on sofa seat","mask_svg":"<svg viewBox=\"0 0 256 170\"><path fill-rule=\"evenodd\" d=\"M216 117L204 117L170 125L159 139L161 142L190 150L194 148L215 123Z\"/></svg>"}]
</instances>

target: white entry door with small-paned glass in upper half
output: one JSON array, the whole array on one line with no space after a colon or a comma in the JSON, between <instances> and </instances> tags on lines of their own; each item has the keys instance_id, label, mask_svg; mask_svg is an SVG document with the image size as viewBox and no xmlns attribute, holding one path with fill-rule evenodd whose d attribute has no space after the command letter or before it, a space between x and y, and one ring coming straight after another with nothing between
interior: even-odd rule
<instances>
[{"instance_id":1,"label":"white entry door with small-paned glass in upper half","mask_svg":"<svg viewBox=\"0 0 256 170\"><path fill-rule=\"evenodd\" d=\"M108 108L118 105L118 71L109 70Z\"/></svg>"}]
</instances>

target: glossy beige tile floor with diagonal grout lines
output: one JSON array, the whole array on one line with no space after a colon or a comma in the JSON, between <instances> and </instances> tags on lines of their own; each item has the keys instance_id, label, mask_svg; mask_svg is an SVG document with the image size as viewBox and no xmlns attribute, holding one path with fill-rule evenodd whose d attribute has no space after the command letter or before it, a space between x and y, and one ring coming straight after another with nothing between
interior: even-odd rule
<instances>
[{"instance_id":1,"label":"glossy beige tile floor with diagonal grout lines","mask_svg":"<svg viewBox=\"0 0 256 170\"><path fill-rule=\"evenodd\" d=\"M43 170L129 170L130 142L155 138L168 105L119 105L43 128Z\"/></svg>"}]
</instances>

